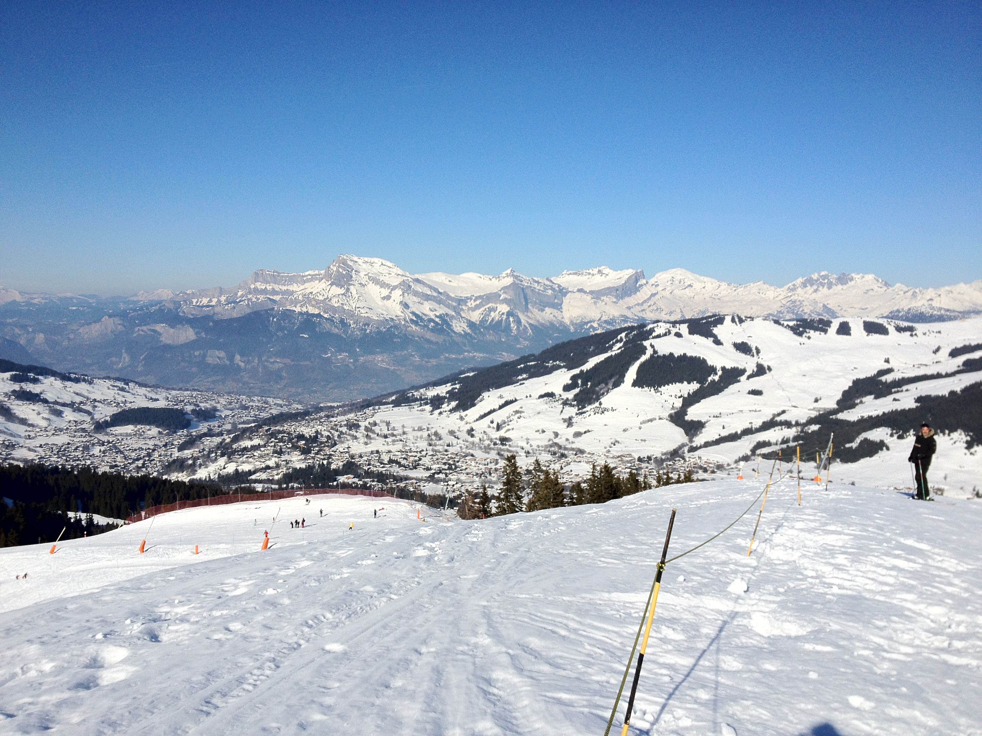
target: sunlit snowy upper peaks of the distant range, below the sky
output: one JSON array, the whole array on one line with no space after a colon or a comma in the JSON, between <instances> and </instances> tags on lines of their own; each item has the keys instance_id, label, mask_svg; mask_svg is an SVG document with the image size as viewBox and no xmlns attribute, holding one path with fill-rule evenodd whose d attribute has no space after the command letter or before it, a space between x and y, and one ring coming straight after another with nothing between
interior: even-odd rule
<instances>
[{"instance_id":1,"label":"sunlit snowy upper peaks of the distant range, below the sky","mask_svg":"<svg viewBox=\"0 0 982 736\"><path fill-rule=\"evenodd\" d=\"M189 315L241 316L278 307L409 325L438 322L455 332L473 326L573 331L708 314L793 319L873 316L898 319L962 316L982 311L982 281L942 289L891 286L872 274L822 272L786 287L736 285L670 269L644 272L606 266L537 279L509 269L500 276L434 272L412 275L381 258L339 255L324 271L260 270L231 289L137 294L167 299Z\"/></svg>"}]
</instances>

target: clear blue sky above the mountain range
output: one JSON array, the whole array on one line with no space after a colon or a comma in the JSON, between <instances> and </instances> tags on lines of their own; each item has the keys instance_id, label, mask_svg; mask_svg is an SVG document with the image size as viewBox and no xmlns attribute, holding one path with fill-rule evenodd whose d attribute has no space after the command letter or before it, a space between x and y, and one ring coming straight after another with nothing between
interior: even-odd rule
<instances>
[{"instance_id":1,"label":"clear blue sky above the mountain range","mask_svg":"<svg viewBox=\"0 0 982 736\"><path fill-rule=\"evenodd\" d=\"M3 3L0 285L982 278L982 5Z\"/></svg>"}]
</instances>

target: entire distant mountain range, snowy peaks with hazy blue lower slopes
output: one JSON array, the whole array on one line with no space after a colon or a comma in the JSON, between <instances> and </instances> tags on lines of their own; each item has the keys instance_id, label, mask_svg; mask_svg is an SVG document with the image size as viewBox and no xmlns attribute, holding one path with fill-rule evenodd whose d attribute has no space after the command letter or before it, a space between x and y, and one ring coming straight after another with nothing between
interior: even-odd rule
<instances>
[{"instance_id":1,"label":"entire distant mountain range, snowy peaks with hazy blue lower slopes","mask_svg":"<svg viewBox=\"0 0 982 736\"><path fill-rule=\"evenodd\" d=\"M380 258L341 255L324 271L260 270L232 288L128 298L0 288L0 337L62 370L334 400L401 389L600 330L732 312L952 319L982 312L982 281L911 289L872 275L820 273L778 288L682 269L646 279L607 267L549 279L511 269L500 276L412 275Z\"/></svg>"}]
</instances>

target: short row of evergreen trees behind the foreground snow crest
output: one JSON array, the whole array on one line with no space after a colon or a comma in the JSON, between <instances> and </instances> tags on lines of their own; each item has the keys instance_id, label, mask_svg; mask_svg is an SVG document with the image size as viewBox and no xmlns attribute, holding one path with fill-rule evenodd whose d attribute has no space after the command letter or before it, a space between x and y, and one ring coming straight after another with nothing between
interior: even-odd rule
<instances>
[{"instance_id":1,"label":"short row of evergreen trees behind the foreground snow crest","mask_svg":"<svg viewBox=\"0 0 982 736\"><path fill-rule=\"evenodd\" d=\"M626 476L619 476L609 463L599 468L594 463L586 482L576 481L569 488L563 485L558 471L543 467L537 459L532 463L527 478L522 477L516 455L505 458L505 475L501 490L494 497L488 492L487 484L481 486L479 493L468 492L458 505L457 513L464 519L481 519L487 516L503 516L518 511L541 511L545 508L578 506L584 503L604 503L608 500L623 499L641 491L659 488L676 483L691 483L695 480L691 470L679 472L673 478L668 471L658 471L654 478L645 472L640 478L633 470Z\"/></svg>"}]
</instances>

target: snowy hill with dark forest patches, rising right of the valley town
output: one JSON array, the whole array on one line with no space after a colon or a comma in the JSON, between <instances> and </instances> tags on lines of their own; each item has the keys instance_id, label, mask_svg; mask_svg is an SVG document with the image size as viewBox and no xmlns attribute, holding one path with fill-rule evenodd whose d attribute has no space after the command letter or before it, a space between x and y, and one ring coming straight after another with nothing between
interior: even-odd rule
<instances>
[{"instance_id":1,"label":"snowy hill with dark forest patches, rising right of the valley town","mask_svg":"<svg viewBox=\"0 0 982 736\"><path fill-rule=\"evenodd\" d=\"M569 480L601 458L626 469L639 457L672 454L755 467L758 451L793 454L794 446L810 477L816 450L836 432L835 481L885 487L909 485L910 433L929 421L939 433L932 484L971 496L982 487L980 336L980 318L917 327L736 317L654 323L397 394L360 418L414 427L422 408L428 446L539 457ZM343 447L398 454L423 439L385 435Z\"/></svg>"}]
</instances>

